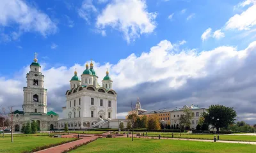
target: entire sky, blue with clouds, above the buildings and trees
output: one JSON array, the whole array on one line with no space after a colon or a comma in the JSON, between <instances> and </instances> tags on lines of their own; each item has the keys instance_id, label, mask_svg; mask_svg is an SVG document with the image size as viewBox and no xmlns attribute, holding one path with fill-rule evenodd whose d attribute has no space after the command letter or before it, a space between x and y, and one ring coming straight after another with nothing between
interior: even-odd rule
<instances>
[{"instance_id":1,"label":"entire sky, blue with clouds, above the buildings and trees","mask_svg":"<svg viewBox=\"0 0 256 153\"><path fill-rule=\"evenodd\" d=\"M0 105L22 110L34 53L48 111L60 113L77 69L93 60L118 93L117 116L142 108L234 107L256 123L255 0L1 0Z\"/></svg>"}]
</instances>

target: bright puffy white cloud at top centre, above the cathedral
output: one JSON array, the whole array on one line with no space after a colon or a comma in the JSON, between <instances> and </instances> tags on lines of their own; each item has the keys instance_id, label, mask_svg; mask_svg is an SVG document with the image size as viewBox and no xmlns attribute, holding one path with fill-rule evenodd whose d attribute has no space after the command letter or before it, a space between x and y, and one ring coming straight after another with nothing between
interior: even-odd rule
<instances>
[{"instance_id":1,"label":"bright puffy white cloud at top centre, above the cathedral","mask_svg":"<svg viewBox=\"0 0 256 153\"><path fill-rule=\"evenodd\" d=\"M112 27L124 34L129 43L141 34L152 33L156 28L155 12L148 13L145 0L115 0L109 3L98 15L98 29Z\"/></svg>"}]
</instances>

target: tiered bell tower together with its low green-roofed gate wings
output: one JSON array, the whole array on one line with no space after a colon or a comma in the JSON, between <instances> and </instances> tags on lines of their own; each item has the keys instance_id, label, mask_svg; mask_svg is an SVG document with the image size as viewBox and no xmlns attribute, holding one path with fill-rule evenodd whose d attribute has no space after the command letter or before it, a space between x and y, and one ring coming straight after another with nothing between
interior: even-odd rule
<instances>
[{"instance_id":1,"label":"tiered bell tower together with its low green-roofed gate wings","mask_svg":"<svg viewBox=\"0 0 256 153\"><path fill-rule=\"evenodd\" d=\"M26 122L33 120L38 123L38 130L41 131L58 128L58 114L52 111L47 112L47 89L44 88L44 75L41 72L41 66L36 59L36 55L26 78L27 87L23 88L23 111L15 110L10 114L13 117L15 131L20 131Z\"/></svg>"}]
</instances>

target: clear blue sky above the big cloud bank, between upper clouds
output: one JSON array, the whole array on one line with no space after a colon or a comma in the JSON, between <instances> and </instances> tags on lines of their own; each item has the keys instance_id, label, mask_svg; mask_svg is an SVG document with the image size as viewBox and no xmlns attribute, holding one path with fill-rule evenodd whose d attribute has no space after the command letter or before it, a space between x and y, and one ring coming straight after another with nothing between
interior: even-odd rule
<instances>
[{"instance_id":1,"label":"clear blue sky above the big cloud bank, between upper clouds","mask_svg":"<svg viewBox=\"0 0 256 153\"><path fill-rule=\"evenodd\" d=\"M95 33L96 17L91 14L90 24L79 17L77 10L83 3L90 1L24 1L31 8L45 13L56 25L56 32L51 32L43 36L38 31L22 32L17 40L1 41L1 75L12 75L22 66L29 64L33 53L37 52L40 61L47 62L51 66L63 64L71 66L74 62L84 63L91 58L95 61L104 63L116 63L120 59L135 53L147 52L150 47L156 45L161 40L172 42L186 40L184 48L198 48L201 50L211 50L220 45L235 45L244 48L248 43L237 44L239 40L223 38L221 40L208 40L202 42L200 36L205 29L220 29L225 25L228 18L232 17L237 11L234 6L239 1L146 1L147 11L157 13L156 28L151 33L140 34L140 38L127 43L120 31L106 28L106 36ZM97 10L102 11L109 4L93 1L92 4ZM182 10L184 13L182 13ZM173 13L170 20L169 15ZM189 15L195 14L187 20ZM10 35L19 31L19 24L10 19L6 26L1 27L1 33ZM49 27L51 29L51 27ZM56 44L56 48L51 46ZM20 48L22 47L22 48ZM117 54L118 53L118 54ZM79 58L77 58L79 55ZM106 58L106 56L108 56ZM4 64L10 61L13 64Z\"/></svg>"}]
</instances>

